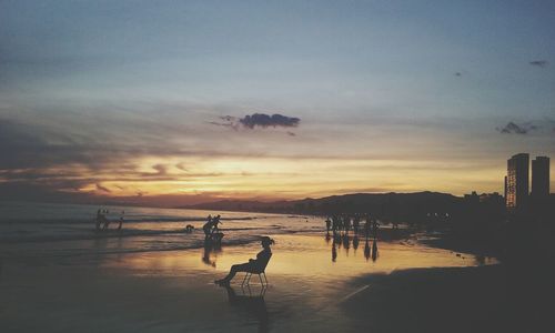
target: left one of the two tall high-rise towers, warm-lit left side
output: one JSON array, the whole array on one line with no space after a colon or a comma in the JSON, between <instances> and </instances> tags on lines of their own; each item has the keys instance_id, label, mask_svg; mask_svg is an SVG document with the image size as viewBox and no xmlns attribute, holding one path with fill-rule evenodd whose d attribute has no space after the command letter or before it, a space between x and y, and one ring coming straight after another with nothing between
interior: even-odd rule
<instances>
[{"instance_id":1,"label":"left one of the two tall high-rise towers, warm-lit left side","mask_svg":"<svg viewBox=\"0 0 555 333\"><path fill-rule=\"evenodd\" d=\"M529 155L519 153L507 160L506 205L522 206L528 200Z\"/></svg>"}]
</instances>

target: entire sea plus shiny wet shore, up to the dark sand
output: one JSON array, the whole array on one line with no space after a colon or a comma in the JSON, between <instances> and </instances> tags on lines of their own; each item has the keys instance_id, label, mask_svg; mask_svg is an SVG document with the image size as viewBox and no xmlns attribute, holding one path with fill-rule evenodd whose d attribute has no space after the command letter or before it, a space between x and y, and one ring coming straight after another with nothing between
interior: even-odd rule
<instances>
[{"instance_id":1,"label":"entire sea plus shiny wet shore, up to the dark sand","mask_svg":"<svg viewBox=\"0 0 555 333\"><path fill-rule=\"evenodd\" d=\"M286 214L103 206L111 221L124 211L123 230L97 232L98 209L0 203L0 332L347 332L360 323L342 304L376 286L361 278L495 263L417 236L379 241L374 258L372 241L334 242L323 219ZM218 213L222 246L204 246L202 225ZM243 287L243 274L216 286L255 258L261 235L275 240L270 286L254 276Z\"/></svg>"}]
</instances>

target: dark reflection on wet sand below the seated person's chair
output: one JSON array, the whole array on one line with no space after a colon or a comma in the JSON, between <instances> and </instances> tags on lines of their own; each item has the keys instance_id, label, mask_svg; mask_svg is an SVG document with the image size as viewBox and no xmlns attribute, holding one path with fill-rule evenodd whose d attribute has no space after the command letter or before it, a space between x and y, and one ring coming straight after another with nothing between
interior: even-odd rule
<instances>
[{"instance_id":1,"label":"dark reflection on wet sand below the seated person's chair","mask_svg":"<svg viewBox=\"0 0 555 333\"><path fill-rule=\"evenodd\" d=\"M248 293L241 287L242 294L238 295L231 285L225 284L224 286L228 291L231 306L242 309L249 314L254 315L259 322L259 332L269 332L270 315L268 313L266 302L264 301L266 287L262 286L258 294L252 294L250 286L246 286Z\"/></svg>"}]
</instances>

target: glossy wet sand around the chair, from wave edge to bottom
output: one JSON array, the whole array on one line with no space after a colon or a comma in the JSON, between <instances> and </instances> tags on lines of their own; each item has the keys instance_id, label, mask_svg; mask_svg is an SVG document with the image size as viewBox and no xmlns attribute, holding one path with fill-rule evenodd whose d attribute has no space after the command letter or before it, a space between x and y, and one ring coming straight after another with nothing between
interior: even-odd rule
<instances>
[{"instance_id":1,"label":"glossy wet sand around the chair, from wave edge to bottom","mask_svg":"<svg viewBox=\"0 0 555 333\"><path fill-rule=\"evenodd\" d=\"M250 289L241 287L241 274L231 290L213 284L231 264L254 258L258 243L224 243L220 251L4 258L0 331L345 332L379 327L403 332L393 323L395 311L381 311L400 297L395 283L415 292L418 283L411 283L418 280L398 280L392 272L481 264L473 255L456 256L410 240L380 242L374 262L364 255L363 240L356 250L353 240L349 248L336 246L333 261L333 243L321 234L274 239L268 289L254 284L256 278ZM379 290L382 293L376 296ZM421 306L433 306L424 295L418 296ZM380 314L379 319L366 315L366 310Z\"/></svg>"}]
</instances>

